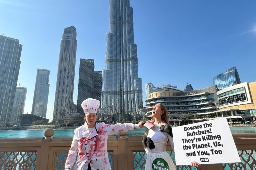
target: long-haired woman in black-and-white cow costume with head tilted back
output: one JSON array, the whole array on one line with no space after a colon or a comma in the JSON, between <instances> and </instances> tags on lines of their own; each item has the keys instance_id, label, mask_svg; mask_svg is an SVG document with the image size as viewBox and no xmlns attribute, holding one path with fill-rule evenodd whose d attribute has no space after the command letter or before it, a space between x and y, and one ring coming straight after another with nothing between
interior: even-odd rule
<instances>
[{"instance_id":1,"label":"long-haired woman in black-and-white cow costume with head tilted back","mask_svg":"<svg viewBox=\"0 0 256 170\"><path fill-rule=\"evenodd\" d=\"M156 168L157 164L155 162L161 162L161 165L165 167L164 169L175 170L176 168L170 155L165 151L168 140L174 150L172 128L169 125L166 107L161 103L156 104L153 107L152 116L153 124L150 126L151 128L145 129L142 141L143 147L147 153L145 170L152 170L154 167L154 169L158 169ZM191 162L191 166L197 165L200 164Z\"/></svg>"}]
</instances>

